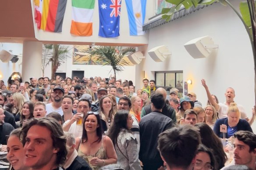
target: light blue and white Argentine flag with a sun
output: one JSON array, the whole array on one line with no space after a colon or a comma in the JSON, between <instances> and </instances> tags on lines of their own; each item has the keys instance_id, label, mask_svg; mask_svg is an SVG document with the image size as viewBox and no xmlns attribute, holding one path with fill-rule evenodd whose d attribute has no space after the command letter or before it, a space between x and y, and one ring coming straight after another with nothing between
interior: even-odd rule
<instances>
[{"instance_id":1,"label":"light blue and white Argentine flag with a sun","mask_svg":"<svg viewBox=\"0 0 256 170\"><path fill-rule=\"evenodd\" d=\"M125 0L129 19L130 35L144 34L142 26L145 21L146 2L147 0Z\"/></svg>"}]
</instances>

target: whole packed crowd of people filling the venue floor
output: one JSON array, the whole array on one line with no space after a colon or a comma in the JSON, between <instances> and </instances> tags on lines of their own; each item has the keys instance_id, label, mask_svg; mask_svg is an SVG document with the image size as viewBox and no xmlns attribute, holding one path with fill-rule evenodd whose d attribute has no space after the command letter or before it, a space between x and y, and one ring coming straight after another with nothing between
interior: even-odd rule
<instances>
[{"instance_id":1,"label":"whole packed crowd of people filling the venue floor","mask_svg":"<svg viewBox=\"0 0 256 170\"><path fill-rule=\"evenodd\" d=\"M256 135L226 89L206 107L143 79L0 80L0 144L10 170L256 170ZM234 155L231 157L231 155Z\"/></svg>"}]
</instances>

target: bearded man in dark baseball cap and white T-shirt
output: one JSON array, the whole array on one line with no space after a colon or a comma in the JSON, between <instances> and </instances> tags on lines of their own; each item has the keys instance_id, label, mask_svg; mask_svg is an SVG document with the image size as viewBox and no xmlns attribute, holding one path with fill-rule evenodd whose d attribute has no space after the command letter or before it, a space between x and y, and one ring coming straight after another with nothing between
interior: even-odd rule
<instances>
[{"instance_id":1,"label":"bearded man in dark baseball cap and white T-shirt","mask_svg":"<svg viewBox=\"0 0 256 170\"><path fill-rule=\"evenodd\" d=\"M61 108L62 97L64 96L64 89L62 87L55 87L53 89L53 102L46 104L46 113L58 112L61 116L63 111Z\"/></svg>"}]
</instances>

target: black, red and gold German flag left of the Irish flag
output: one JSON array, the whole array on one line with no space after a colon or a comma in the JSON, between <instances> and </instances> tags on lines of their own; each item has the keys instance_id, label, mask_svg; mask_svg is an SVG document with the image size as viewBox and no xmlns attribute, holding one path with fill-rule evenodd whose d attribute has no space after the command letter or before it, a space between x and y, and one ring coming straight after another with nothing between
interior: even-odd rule
<instances>
[{"instance_id":1,"label":"black, red and gold German flag left of the Irish flag","mask_svg":"<svg viewBox=\"0 0 256 170\"><path fill-rule=\"evenodd\" d=\"M43 0L43 13L40 29L61 32L67 0Z\"/></svg>"}]
</instances>

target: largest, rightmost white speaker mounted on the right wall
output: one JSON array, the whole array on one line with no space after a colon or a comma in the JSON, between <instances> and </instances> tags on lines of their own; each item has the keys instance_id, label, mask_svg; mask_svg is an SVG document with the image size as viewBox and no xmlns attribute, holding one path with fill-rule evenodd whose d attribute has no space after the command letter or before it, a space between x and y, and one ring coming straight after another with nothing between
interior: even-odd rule
<instances>
[{"instance_id":1,"label":"largest, rightmost white speaker mounted on the right wall","mask_svg":"<svg viewBox=\"0 0 256 170\"><path fill-rule=\"evenodd\" d=\"M210 56L213 49L217 49L218 45L215 45L213 38L209 36L199 37L192 39L184 44L187 52L194 59L205 58Z\"/></svg>"}]
</instances>

